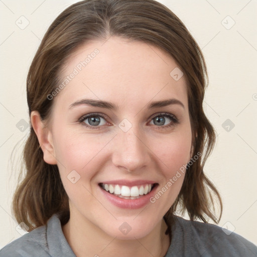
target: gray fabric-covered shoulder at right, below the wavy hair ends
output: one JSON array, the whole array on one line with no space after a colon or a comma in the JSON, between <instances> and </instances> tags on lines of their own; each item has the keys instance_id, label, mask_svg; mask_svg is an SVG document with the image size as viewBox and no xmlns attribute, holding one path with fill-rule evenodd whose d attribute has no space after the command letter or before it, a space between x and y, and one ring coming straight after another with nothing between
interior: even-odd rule
<instances>
[{"instance_id":1,"label":"gray fabric-covered shoulder at right, below the wavy hair ends","mask_svg":"<svg viewBox=\"0 0 257 257\"><path fill-rule=\"evenodd\" d=\"M214 224L175 216L172 233L175 242L171 246L176 248L178 240L183 240L182 251L186 256L257 256L257 247L253 243Z\"/></svg>"}]
</instances>

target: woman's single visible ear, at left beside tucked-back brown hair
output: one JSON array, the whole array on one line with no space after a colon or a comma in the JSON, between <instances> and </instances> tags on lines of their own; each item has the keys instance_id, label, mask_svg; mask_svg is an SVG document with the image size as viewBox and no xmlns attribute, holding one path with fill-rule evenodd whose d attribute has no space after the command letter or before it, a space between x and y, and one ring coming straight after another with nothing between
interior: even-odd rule
<instances>
[{"instance_id":1,"label":"woman's single visible ear, at left beside tucked-back brown hair","mask_svg":"<svg viewBox=\"0 0 257 257\"><path fill-rule=\"evenodd\" d=\"M38 111L31 112L31 124L37 135L39 145L44 153L44 161L52 165L57 164L52 133L41 120L41 116Z\"/></svg>"}]
</instances>

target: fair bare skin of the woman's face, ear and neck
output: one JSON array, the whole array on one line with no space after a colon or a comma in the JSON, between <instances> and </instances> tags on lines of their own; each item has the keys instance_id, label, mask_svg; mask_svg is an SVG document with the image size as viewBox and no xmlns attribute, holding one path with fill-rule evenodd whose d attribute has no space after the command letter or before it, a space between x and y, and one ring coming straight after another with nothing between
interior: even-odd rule
<instances>
[{"instance_id":1,"label":"fair bare skin of the woman's face, ear and neck","mask_svg":"<svg viewBox=\"0 0 257 257\"><path fill-rule=\"evenodd\" d=\"M61 72L69 75L85 56L99 54L54 97L48 123L33 111L31 120L44 152L44 160L57 164L69 196L70 220L62 229L76 256L160 256L169 248L163 216L174 203L184 175L155 203L140 209L121 209L107 201L98 183L107 180L148 179L167 184L191 156L192 132L189 119L187 85L184 76L175 81L170 72L178 67L174 59L157 47L111 37L77 49ZM62 81L62 79L60 81ZM69 106L83 98L110 101L110 110L90 105ZM175 98L179 104L148 109L147 104ZM86 127L88 113L103 113L99 129ZM179 119L174 123L154 123L160 112ZM157 115L154 115L157 114ZM123 132L118 124L129 120L132 127ZM75 170L80 179L71 183L68 174ZM127 222L126 235L118 229Z\"/></svg>"}]
</instances>

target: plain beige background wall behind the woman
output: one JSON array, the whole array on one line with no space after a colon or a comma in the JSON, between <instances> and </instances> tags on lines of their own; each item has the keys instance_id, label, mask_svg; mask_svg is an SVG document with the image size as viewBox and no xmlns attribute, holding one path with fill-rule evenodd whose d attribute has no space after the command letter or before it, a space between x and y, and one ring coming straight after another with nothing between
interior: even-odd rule
<instances>
[{"instance_id":1,"label":"plain beige background wall behind the woman","mask_svg":"<svg viewBox=\"0 0 257 257\"><path fill-rule=\"evenodd\" d=\"M10 156L16 144L17 157L20 156L21 140L29 132L25 122L29 122L26 103L29 65L50 23L75 2L0 1L0 248L21 236L10 208L19 164L12 172ZM224 211L219 225L256 244L257 2L160 2L185 23L206 58L210 83L205 110L218 138L205 171L222 195ZM28 26L23 28L26 23Z\"/></svg>"}]
</instances>

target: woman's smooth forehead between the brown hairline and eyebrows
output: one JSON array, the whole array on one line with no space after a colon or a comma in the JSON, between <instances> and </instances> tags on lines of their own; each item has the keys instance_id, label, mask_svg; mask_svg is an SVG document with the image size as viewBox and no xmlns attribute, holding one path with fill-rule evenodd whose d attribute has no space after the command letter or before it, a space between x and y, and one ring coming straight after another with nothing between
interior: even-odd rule
<instances>
[{"instance_id":1,"label":"woman's smooth forehead between the brown hairline and eyebrows","mask_svg":"<svg viewBox=\"0 0 257 257\"><path fill-rule=\"evenodd\" d=\"M172 97L187 107L186 80L184 76L174 79L174 71L181 72L178 64L156 46L117 37L90 42L64 64L60 73L63 89L55 101L66 107L86 97L138 107Z\"/></svg>"}]
</instances>

